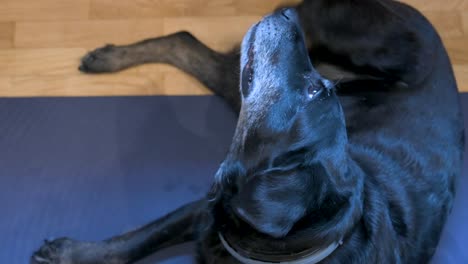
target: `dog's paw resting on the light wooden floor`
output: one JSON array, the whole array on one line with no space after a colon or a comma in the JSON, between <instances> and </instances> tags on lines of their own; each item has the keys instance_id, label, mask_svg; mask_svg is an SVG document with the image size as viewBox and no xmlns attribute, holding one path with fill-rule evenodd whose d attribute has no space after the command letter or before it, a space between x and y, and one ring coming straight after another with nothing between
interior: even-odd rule
<instances>
[{"instance_id":1,"label":"dog's paw resting on the light wooden floor","mask_svg":"<svg viewBox=\"0 0 468 264\"><path fill-rule=\"evenodd\" d=\"M114 45L97 48L81 59L78 69L85 73L104 73L121 70L125 61L125 50Z\"/></svg>"}]
</instances>

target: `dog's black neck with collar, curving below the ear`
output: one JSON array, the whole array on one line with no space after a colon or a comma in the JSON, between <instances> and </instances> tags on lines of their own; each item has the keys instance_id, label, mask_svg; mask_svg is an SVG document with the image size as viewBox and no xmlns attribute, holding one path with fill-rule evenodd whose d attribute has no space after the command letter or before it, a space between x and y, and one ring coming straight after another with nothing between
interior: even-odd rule
<instances>
[{"instance_id":1,"label":"dog's black neck with collar, curving below the ear","mask_svg":"<svg viewBox=\"0 0 468 264\"><path fill-rule=\"evenodd\" d=\"M347 192L352 190L350 196L322 204L298 223L293 234L281 239L271 239L260 234L239 219L235 220L233 215L220 218L217 222L223 247L245 264L310 264L329 257L353 232L362 215L363 173L356 163L347 160L348 162L343 162L348 168L344 175L338 178L341 181L350 180L344 187ZM335 181L334 184L343 186L343 182ZM224 208L218 207L221 211L224 211Z\"/></svg>"}]
</instances>

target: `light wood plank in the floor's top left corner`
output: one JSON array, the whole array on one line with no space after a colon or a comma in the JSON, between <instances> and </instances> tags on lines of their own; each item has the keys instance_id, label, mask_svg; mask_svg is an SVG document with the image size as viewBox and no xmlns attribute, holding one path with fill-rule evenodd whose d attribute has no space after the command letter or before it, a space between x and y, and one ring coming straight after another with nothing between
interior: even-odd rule
<instances>
[{"instance_id":1,"label":"light wood plank in the floor's top left corner","mask_svg":"<svg viewBox=\"0 0 468 264\"><path fill-rule=\"evenodd\" d=\"M87 19L90 0L2 0L0 21ZM35 34L40 34L36 32Z\"/></svg>"}]
</instances>

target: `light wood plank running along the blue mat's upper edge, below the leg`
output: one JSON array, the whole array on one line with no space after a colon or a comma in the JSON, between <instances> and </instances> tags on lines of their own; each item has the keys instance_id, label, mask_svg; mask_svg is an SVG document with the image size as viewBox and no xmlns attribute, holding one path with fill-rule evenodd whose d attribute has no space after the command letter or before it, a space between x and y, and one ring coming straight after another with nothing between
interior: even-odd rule
<instances>
[{"instance_id":1,"label":"light wood plank running along the blue mat's upper edge, below the leg","mask_svg":"<svg viewBox=\"0 0 468 264\"><path fill-rule=\"evenodd\" d=\"M0 97L208 95L198 81L173 69L152 74L0 76Z\"/></svg>"}]
</instances>

